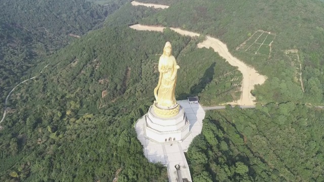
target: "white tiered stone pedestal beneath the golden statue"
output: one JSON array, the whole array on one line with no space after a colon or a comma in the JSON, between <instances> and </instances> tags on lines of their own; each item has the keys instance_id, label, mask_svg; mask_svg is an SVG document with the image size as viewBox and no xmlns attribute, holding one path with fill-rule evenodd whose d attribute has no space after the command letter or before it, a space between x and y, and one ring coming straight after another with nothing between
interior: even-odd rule
<instances>
[{"instance_id":1,"label":"white tiered stone pedestal beneath the golden statue","mask_svg":"<svg viewBox=\"0 0 324 182\"><path fill-rule=\"evenodd\" d=\"M178 115L167 119L158 117L151 106L145 121L145 137L159 143L182 141L189 134L190 123L181 106Z\"/></svg>"}]
</instances>

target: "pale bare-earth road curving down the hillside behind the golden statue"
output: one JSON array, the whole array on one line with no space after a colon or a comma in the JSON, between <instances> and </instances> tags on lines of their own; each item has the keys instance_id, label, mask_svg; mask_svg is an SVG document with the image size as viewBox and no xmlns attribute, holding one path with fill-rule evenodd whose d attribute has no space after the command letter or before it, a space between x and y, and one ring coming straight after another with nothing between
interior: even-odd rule
<instances>
[{"instance_id":1,"label":"pale bare-earth road curving down the hillside behind the golden statue","mask_svg":"<svg viewBox=\"0 0 324 182\"><path fill-rule=\"evenodd\" d=\"M130 28L135 30L148 30L148 31L160 31L162 32L163 29L166 27L158 27L158 26L146 26L146 25L132 25ZM187 36L199 36L199 33L190 32L186 30L182 30L180 28L171 28L172 30L178 32L182 35ZM238 67L237 69L242 73L242 86L241 86L241 98L238 101L227 103L232 105L242 105L242 106L251 106L255 105L255 97L252 96L251 90L254 89L255 84L262 84L266 80L266 77L257 73L257 71L246 65L244 62L238 60L237 58L233 57L225 43L221 42L220 40L213 38L211 36L207 36L207 39L201 43L197 44L198 48L213 48L215 52L217 52L221 57L225 58L226 61L232 65Z\"/></svg>"}]
</instances>

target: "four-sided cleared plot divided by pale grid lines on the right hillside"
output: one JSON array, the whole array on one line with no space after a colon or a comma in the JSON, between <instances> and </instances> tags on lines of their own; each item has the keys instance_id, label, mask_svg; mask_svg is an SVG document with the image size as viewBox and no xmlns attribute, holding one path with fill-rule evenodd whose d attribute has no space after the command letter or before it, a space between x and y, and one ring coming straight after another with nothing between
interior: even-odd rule
<instances>
[{"instance_id":1,"label":"four-sided cleared plot divided by pale grid lines on the right hillside","mask_svg":"<svg viewBox=\"0 0 324 182\"><path fill-rule=\"evenodd\" d=\"M271 43L275 39L275 34L263 30L256 31L246 41L241 43L236 50L250 54L268 55L271 53Z\"/></svg>"}]
</instances>

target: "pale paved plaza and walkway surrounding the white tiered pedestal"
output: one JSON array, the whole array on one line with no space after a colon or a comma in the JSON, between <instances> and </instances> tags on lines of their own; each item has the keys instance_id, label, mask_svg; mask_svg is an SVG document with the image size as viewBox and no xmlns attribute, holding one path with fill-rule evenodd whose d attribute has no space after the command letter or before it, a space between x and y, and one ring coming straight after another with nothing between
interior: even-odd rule
<instances>
[{"instance_id":1,"label":"pale paved plaza and walkway surrounding the white tiered pedestal","mask_svg":"<svg viewBox=\"0 0 324 182\"><path fill-rule=\"evenodd\" d=\"M169 181L177 181L176 164L181 166L182 178L187 178L189 181L192 181L188 163L183 152L187 151L193 138L201 132L205 111L200 104L189 104L187 100L178 101L178 103L184 108L190 122L190 132L184 141L157 143L147 139L144 130L144 116L137 121L135 129L137 138L143 145L145 157L150 162L161 162L166 165L168 167Z\"/></svg>"}]
</instances>

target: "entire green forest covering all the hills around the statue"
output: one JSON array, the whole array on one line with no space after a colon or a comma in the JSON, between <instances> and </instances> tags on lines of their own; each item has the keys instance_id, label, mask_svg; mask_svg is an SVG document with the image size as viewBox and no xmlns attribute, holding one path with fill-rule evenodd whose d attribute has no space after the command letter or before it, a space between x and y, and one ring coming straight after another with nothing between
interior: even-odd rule
<instances>
[{"instance_id":1,"label":"entire green forest covering all the hills around the statue","mask_svg":"<svg viewBox=\"0 0 324 182\"><path fill-rule=\"evenodd\" d=\"M180 66L177 100L237 100L242 75L214 50L196 47L204 36L128 28L137 23L217 37L268 77L253 90L256 109L206 113L186 153L193 182L324 181L324 116L306 104L323 103L323 3L139 1L172 5L155 10L130 2L0 6L0 99L35 76L9 98L0 181L168 181L166 167L144 157L133 128L153 103L165 42ZM250 49L256 36L268 43L257 51Z\"/></svg>"}]
</instances>

